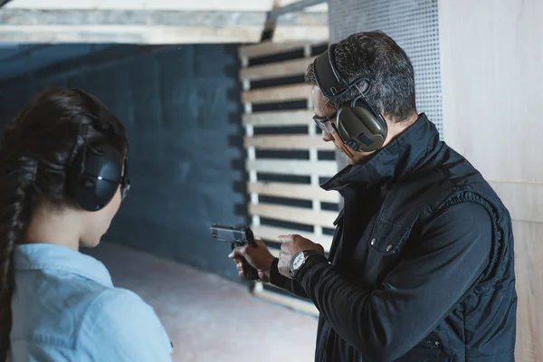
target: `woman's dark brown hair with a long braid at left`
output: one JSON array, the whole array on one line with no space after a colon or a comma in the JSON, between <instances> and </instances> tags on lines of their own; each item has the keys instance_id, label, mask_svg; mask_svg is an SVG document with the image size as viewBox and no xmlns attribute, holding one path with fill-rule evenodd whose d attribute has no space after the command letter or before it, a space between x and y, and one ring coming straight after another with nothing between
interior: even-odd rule
<instances>
[{"instance_id":1,"label":"woman's dark brown hair with a long braid at left","mask_svg":"<svg viewBox=\"0 0 543 362\"><path fill-rule=\"evenodd\" d=\"M126 130L112 114L100 119L117 134L95 128L100 106L78 90L51 88L30 100L5 129L0 146L0 361L7 358L14 293L13 252L24 241L33 209L79 207L67 176L85 142L104 142L127 152ZM103 118L103 112L100 114ZM83 134L84 133L84 134Z\"/></svg>"}]
</instances>

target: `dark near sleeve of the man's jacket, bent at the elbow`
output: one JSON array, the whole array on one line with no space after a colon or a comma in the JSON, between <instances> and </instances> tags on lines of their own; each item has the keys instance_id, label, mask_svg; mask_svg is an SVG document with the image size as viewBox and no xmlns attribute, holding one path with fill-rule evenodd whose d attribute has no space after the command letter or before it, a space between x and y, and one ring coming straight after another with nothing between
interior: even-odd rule
<instances>
[{"instance_id":1,"label":"dark near sleeve of the man's jacket, bent at the elbow","mask_svg":"<svg viewBox=\"0 0 543 362\"><path fill-rule=\"evenodd\" d=\"M310 258L300 285L338 335L367 361L401 357L449 314L491 254L491 217L476 203L452 205L405 245L376 290L364 290L323 258Z\"/></svg>"}]
</instances>

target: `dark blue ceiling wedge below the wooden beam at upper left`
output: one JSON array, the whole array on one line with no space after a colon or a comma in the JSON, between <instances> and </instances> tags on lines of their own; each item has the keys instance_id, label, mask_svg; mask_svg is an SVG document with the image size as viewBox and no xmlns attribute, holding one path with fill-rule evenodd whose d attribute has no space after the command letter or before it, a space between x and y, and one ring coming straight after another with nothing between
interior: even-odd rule
<instances>
[{"instance_id":1,"label":"dark blue ceiling wedge below the wooden beam at upper left","mask_svg":"<svg viewBox=\"0 0 543 362\"><path fill-rule=\"evenodd\" d=\"M110 44L0 43L0 81L16 78L55 63L85 57L110 46Z\"/></svg>"}]
</instances>

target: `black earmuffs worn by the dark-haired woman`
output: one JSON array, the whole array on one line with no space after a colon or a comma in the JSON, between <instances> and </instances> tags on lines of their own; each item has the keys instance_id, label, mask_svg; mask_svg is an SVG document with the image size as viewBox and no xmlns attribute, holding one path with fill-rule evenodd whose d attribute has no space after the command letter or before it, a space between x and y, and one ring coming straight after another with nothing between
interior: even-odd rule
<instances>
[{"instance_id":1,"label":"black earmuffs worn by the dark-haired woman","mask_svg":"<svg viewBox=\"0 0 543 362\"><path fill-rule=\"evenodd\" d=\"M115 116L89 93L76 90L92 104L92 113L85 116L92 119L92 127L101 132L119 134L114 122ZM81 135L84 145L72 158L69 168L67 187L71 197L84 210L98 211L110 204L111 199L121 187L121 197L129 191L128 162L117 148L109 144L93 144L87 142L90 124L81 124ZM128 144L128 142L127 142ZM124 169L123 169L124 168Z\"/></svg>"}]
</instances>

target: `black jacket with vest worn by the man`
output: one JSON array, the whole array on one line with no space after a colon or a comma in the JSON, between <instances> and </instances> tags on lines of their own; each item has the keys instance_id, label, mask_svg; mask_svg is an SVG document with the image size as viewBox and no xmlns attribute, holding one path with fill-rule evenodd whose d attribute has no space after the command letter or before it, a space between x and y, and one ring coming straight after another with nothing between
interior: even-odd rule
<instances>
[{"instance_id":1,"label":"black jacket with vest worn by the man","mask_svg":"<svg viewBox=\"0 0 543 362\"><path fill-rule=\"evenodd\" d=\"M426 116L322 186L345 206L329 252L271 283L320 311L315 361L513 361L510 214Z\"/></svg>"}]
</instances>

